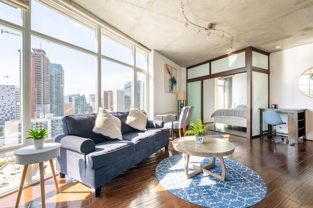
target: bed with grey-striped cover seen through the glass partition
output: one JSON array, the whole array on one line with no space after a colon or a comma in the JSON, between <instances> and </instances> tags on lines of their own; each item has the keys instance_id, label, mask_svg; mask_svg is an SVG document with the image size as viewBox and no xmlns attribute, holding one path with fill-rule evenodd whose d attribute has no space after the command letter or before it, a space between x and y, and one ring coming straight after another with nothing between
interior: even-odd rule
<instances>
[{"instance_id":1,"label":"bed with grey-striped cover seen through the glass partition","mask_svg":"<svg viewBox=\"0 0 313 208\"><path fill-rule=\"evenodd\" d=\"M214 123L246 127L246 105L238 105L236 108L218 109L212 113Z\"/></svg>"}]
</instances>

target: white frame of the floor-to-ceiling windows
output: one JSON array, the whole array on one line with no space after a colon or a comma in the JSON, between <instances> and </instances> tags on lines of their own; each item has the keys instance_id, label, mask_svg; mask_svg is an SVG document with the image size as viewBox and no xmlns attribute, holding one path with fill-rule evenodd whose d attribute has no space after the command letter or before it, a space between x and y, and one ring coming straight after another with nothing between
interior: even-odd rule
<instances>
[{"instance_id":1,"label":"white frame of the floor-to-ceiling windows","mask_svg":"<svg viewBox=\"0 0 313 208\"><path fill-rule=\"evenodd\" d=\"M96 89L95 89L95 97L96 97L96 103L95 103L95 109L96 112L98 112L98 108L101 106L101 59L107 59L113 62L116 62L118 64L122 64L127 67L131 67L133 69L132 73L132 105L137 106L137 98L136 98L136 76L137 73L141 73L145 75L146 82L144 83L145 87L145 110L148 111L148 54L150 53L150 50L145 48L144 46L140 45L133 39L127 37L126 35L119 32L117 29L113 28L111 25L107 24L106 22L102 21L101 19L95 17L91 13L85 11L83 8L79 7L78 5L71 3L71 2L65 2L63 0L36 0L38 3L43 4L46 7L51 8L52 5L57 5L57 8L52 7L52 9L56 12L58 12L60 15L65 15L66 13L69 13L70 15L66 15L68 18L73 18L74 16L79 16L80 19L85 19L90 24L95 25L96 30L96 50L90 51L88 49L85 49L83 47L77 46L75 44L71 44L69 42L63 41L61 39L53 38L48 35L42 34L37 31L31 30L31 1L30 6L28 10L22 10L22 25L17 25L12 22L8 22L4 19L0 19L0 25L3 25L8 28L12 28L13 30L17 30L22 32L22 44L21 44L21 125L22 125L22 144L11 146L11 147L3 147L0 149L0 153L7 153L11 151L15 151L19 148L22 148L24 146L31 145L31 141L29 139L26 139L27 137L27 131L31 128L31 99L25 99L26 97L29 97L31 95L31 37L37 37L41 39L45 39L47 41L60 44L62 46L95 56L96 58L96 64L95 64L95 70L96 70ZM60 11L59 8L62 8L63 11ZM65 13L66 11L66 13ZM88 25L87 25L88 26ZM112 36L108 37L113 39L114 41L117 41L119 44L121 42L125 42L127 45L132 45L132 53L133 53L133 63L127 64L124 62L121 62L119 60L113 59L111 57L106 57L101 54L101 33L102 30L106 30L107 32L111 33ZM140 50L140 52L145 52L146 56L146 69L141 69L136 67L136 50ZM148 113L148 112L147 112ZM46 142L52 142L53 138L46 140ZM30 168L30 167L29 167ZM31 171L27 171L26 176L26 183L29 186L35 181L32 181L31 177ZM49 175L48 175L49 176ZM5 191L5 193L0 193L0 196L9 194L15 190L18 189L18 186L14 188L10 188L8 191Z\"/></svg>"}]
</instances>

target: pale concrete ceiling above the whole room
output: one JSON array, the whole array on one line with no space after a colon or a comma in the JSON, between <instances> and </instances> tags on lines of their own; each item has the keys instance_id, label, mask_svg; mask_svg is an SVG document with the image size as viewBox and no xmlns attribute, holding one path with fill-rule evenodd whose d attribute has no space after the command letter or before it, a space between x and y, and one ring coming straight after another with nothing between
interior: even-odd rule
<instances>
[{"instance_id":1,"label":"pale concrete ceiling above the whole room","mask_svg":"<svg viewBox=\"0 0 313 208\"><path fill-rule=\"evenodd\" d=\"M183 0L189 20L215 23L229 39L184 26L180 0L72 0L145 47L188 67L252 46L266 52L313 42L313 0ZM275 46L281 45L280 49Z\"/></svg>"}]
</instances>

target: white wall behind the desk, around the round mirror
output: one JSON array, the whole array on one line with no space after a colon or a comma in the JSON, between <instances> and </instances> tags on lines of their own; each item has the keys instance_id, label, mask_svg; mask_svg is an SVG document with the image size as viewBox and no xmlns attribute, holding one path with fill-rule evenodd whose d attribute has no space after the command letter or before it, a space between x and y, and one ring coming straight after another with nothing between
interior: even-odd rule
<instances>
[{"instance_id":1,"label":"white wall behind the desk, around the round mirror","mask_svg":"<svg viewBox=\"0 0 313 208\"><path fill-rule=\"evenodd\" d=\"M297 86L299 76L313 67L313 43L271 53L269 56L269 105L279 108L305 108L306 137L313 140L313 98Z\"/></svg>"}]
</instances>

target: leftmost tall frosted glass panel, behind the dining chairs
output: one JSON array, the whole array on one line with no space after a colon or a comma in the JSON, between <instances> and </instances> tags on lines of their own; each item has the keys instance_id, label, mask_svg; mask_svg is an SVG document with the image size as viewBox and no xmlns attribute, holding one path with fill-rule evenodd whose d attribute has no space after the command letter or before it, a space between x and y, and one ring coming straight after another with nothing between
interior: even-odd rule
<instances>
[{"instance_id":1,"label":"leftmost tall frosted glass panel, behind the dining chairs","mask_svg":"<svg viewBox=\"0 0 313 208\"><path fill-rule=\"evenodd\" d=\"M187 83L187 105L194 106L191 121L196 123L201 118L201 81Z\"/></svg>"}]
</instances>

